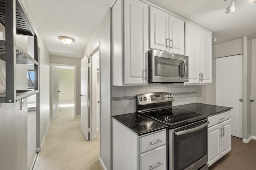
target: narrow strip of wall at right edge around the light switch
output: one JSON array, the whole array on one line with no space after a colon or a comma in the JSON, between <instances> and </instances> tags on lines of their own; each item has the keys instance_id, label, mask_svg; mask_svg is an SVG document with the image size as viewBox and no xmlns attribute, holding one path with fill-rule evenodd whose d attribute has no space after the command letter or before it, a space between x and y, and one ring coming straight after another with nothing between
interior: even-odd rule
<instances>
[{"instance_id":1,"label":"narrow strip of wall at right edge around the light switch","mask_svg":"<svg viewBox=\"0 0 256 170\"><path fill-rule=\"evenodd\" d=\"M252 94L256 95L256 39L252 40ZM256 96L255 96L256 97ZM252 101L252 136L256 136L256 98Z\"/></svg>"}]
</instances>

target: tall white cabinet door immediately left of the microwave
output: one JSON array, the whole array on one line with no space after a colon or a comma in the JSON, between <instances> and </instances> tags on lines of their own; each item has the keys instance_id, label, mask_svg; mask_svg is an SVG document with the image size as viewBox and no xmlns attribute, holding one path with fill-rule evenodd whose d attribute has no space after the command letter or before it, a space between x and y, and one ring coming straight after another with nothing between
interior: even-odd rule
<instances>
[{"instance_id":1,"label":"tall white cabinet door immediately left of the microwave","mask_svg":"<svg viewBox=\"0 0 256 170\"><path fill-rule=\"evenodd\" d=\"M147 84L148 5L124 1L124 84Z\"/></svg>"}]
</instances>

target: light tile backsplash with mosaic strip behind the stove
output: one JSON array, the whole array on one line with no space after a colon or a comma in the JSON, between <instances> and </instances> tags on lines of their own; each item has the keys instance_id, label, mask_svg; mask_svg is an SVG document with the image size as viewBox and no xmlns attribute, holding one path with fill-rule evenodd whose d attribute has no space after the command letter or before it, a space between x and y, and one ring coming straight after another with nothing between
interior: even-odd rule
<instances>
[{"instance_id":1,"label":"light tile backsplash with mosaic strip behind the stove","mask_svg":"<svg viewBox=\"0 0 256 170\"><path fill-rule=\"evenodd\" d=\"M112 86L112 116L136 112L136 95L168 92L174 96L173 106L196 102L196 86L175 84L148 84L147 86Z\"/></svg>"}]
</instances>

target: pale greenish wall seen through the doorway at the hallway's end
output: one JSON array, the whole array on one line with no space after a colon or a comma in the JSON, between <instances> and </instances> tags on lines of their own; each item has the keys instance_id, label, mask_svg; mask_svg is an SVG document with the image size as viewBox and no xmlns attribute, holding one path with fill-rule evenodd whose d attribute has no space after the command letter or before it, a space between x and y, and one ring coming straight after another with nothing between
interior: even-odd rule
<instances>
[{"instance_id":1,"label":"pale greenish wall seen through the doorway at the hallway's end","mask_svg":"<svg viewBox=\"0 0 256 170\"><path fill-rule=\"evenodd\" d=\"M74 101L74 69L59 69L59 101Z\"/></svg>"}]
</instances>

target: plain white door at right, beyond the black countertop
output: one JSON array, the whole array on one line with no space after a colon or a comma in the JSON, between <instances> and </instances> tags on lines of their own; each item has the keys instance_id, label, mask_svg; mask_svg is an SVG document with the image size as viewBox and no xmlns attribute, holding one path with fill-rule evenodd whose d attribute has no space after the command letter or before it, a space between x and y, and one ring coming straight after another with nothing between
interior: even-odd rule
<instances>
[{"instance_id":1,"label":"plain white door at right, beyond the black countertop","mask_svg":"<svg viewBox=\"0 0 256 170\"><path fill-rule=\"evenodd\" d=\"M242 138L243 55L216 59L216 105L232 107L231 135Z\"/></svg>"}]
</instances>

